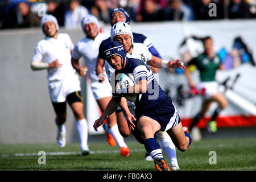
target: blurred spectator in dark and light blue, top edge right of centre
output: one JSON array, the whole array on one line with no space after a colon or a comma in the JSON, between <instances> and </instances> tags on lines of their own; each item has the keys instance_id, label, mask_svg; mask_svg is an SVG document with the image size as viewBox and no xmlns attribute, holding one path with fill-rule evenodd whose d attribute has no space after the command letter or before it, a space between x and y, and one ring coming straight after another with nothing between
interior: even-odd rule
<instances>
[{"instance_id":1,"label":"blurred spectator in dark and light blue, top edge right of centre","mask_svg":"<svg viewBox=\"0 0 256 182\"><path fill-rule=\"evenodd\" d=\"M165 20L194 20L194 13L190 6L185 5L182 0L170 0L165 10Z\"/></svg>"}]
</instances>

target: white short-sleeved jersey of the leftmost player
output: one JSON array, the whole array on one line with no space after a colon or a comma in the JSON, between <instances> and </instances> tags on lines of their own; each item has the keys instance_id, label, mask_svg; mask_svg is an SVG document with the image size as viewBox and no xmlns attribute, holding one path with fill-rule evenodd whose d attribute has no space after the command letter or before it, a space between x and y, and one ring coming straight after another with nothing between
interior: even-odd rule
<instances>
[{"instance_id":1,"label":"white short-sleeved jersey of the leftmost player","mask_svg":"<svg viewBox=\"0 0 256 182\"><path fill-rule=\"evenodd\" d=\"M63 80L70 74L75 74L71 64L73 43L68 34L59 34L57 39L46 37L40 40L35 47L32 61L51 63L56 59L62 64L60 68L48 68L48 81Z\"/></svg>"}]
</instances>

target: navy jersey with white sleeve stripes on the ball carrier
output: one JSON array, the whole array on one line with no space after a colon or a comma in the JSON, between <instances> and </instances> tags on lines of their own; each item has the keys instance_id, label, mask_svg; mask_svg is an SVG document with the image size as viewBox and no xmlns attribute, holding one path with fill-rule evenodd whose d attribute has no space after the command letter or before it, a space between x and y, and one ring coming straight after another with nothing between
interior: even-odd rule
<instances>
[{"instance_id":1,"label":"navy jersey with white sleeve stripes on the ball carrier","mask_svg":"<svg viewBox=\"0 0 256 182\"><path fill-rule=\"evenodd\" d=\"M138 84L140 80L147 80L147 92L142 93L141 100L135 102L136 109L150 109L167 98L167 94L160 88L158 82L155 80L154 73L152 73L142 60L127 57L125 68L115 71L114 73L116 81L118 81L118 77L121 76L119 73L133 74L135 84ZM113 96L115 96L115 94L113 94Z\"/></svg>"}]
</instances>

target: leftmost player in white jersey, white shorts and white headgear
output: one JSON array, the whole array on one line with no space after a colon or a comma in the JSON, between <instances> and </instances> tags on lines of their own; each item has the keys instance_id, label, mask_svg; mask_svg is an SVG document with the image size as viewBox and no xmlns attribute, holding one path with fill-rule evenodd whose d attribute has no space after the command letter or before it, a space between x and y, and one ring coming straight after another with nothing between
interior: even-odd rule
<instances>
[{"instance_id":1,"label":"leftmost player in white jersey, white shorts and white headgear","mask_svg":"<svg viewBox=\"0 0 256 182\"><path fill-rule=\"evenodd\" d=\"M68 34L59 34L59 25L52 15L44 15L40 26L46 38L40 40L32 56L33 71L47 69L49 96L56 113L57 143L65 147L65 121L68 102L76 119L82 155L89 154L88 124L84 116L79 77L71 65L73 43Z\"/></svg>"}]
</instances>

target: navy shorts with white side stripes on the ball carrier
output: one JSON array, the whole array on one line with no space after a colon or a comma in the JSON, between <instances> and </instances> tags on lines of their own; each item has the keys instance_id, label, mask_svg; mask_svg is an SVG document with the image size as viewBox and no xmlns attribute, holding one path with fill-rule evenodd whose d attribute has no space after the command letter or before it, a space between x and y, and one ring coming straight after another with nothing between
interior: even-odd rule
<instances>
[{"instance_id":1,"label":"navy shorts with white side stripes on the ball carrier","mask_svg":"<svg viewBox=\"0 0 256 182\"><path fill-rule=\"evenodd\" d=\"M161 131L167 131L180 123L179 114L170 97L167 97L163 102L148 110L136 108L135 117L137 121L142 116L147 116L159 122Z\"/></svg>"}]
</instances>

